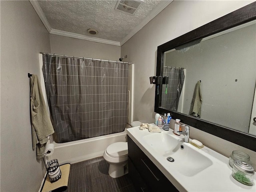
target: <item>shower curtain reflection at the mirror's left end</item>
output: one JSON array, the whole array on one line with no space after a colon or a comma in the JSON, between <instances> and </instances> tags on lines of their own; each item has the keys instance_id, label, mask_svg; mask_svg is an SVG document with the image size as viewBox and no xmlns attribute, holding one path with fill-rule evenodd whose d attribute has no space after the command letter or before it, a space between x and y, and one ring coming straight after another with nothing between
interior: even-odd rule
<instances>
[{"instance_id":1,"label":"shower curtain reflection at the mirror's left end","mask_svg":"<svg viewBox=\"0 0 256 192\"><path fill-rule=\"evenodd\" d=\"M180 93L184 84L184 68L164 67L163 76L169 76L168 84L162 87L162 107L177 111ZM166 94L167 86L167 94Z\"/></svg>"}]
</instances>

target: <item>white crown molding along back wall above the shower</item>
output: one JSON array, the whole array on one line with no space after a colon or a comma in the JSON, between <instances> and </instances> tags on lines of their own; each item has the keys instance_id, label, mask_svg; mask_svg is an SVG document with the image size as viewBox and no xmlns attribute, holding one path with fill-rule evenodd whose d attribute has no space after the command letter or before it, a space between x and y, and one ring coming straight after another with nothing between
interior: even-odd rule
<instances>
[{"instance_id":1,"label":"white crown molding along back wall above the shower","mask_svg":"<svg viewBox=\"0 0 256 192\"><path fill-rule=\"evenodd\" d=\"M120 42L117 42L117 41L111 41L111 40L106 40L106 39L101 39L101 38L96 38L96 37L90 37L90 36L86 36L86 35L80 35L80 34L76 34L76 33L56 30L56 29L52 29L50 31L50 34L61 35L61 36L66 36L66 37L71 37L71 38L76 38L76 39L82 39L82 40L87 40L87 41L93 41L93 42L98 42L98 43L104 43L104 44L109 44L109 45L120 46Z\"/></svg>"}]
</instances>

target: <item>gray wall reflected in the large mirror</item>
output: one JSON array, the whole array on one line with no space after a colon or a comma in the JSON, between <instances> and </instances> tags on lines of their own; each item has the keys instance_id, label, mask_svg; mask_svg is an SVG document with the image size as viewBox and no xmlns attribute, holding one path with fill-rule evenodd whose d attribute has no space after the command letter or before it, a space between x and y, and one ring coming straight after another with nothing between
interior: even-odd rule
<instances>
[{"instance_id":1,"label":"gray wall reflected in the large mirror","mask_svg":"<svg viewBox=\"0 0 256 192\"><path fill-rule=\"evenodd\" d=\"M186 68L184 114L189 114L195 85L201 80L201 119L248 133L256 82L255 27L166 54L165 66Z\"/></svg>"}]
</instances>

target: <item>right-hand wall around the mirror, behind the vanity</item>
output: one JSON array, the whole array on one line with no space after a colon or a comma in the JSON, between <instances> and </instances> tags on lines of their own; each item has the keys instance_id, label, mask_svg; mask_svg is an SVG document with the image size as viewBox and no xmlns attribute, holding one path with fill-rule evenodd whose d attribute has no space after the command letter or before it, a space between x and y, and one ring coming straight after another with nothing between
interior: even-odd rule
<instances>
[{"instance_id":1,"label":"right-hand wall around the mirror, behind the vanity","mask_svg":"<svg viewBox=\"0 0 256 192\"><path fill-rule=\"evenodd\" d=\"M155 85L150 84L149 76L156 74L157 46L251 2L253 1L173 1L122 45L121 55L128 54L130 62L134 63L134 120L154 122ZM229 156L232 150L247 152L255 167L256 153L251 150L195 128L191 128L191 137L201 140L206 146L225 156Z\"/></svg>"}]
</instances>

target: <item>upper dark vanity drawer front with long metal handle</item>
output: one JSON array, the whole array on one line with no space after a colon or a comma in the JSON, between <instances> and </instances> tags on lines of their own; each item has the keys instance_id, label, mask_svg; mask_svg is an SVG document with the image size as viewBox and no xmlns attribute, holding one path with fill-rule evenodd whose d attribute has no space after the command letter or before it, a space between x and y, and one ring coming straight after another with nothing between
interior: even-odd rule
<instances>
[{"instance_id":1,"label":"upper dark vanity drawer front with long metal handle","mask_svg":"<svg viewBox=\"0 0 256 192\"><path fill-rule=\"evenodd\" d=\"M128 156L152 192L178 191L156 165L128 136ZM129 168L130 172L130 168Z\"/></svg>"}]
</instances>

